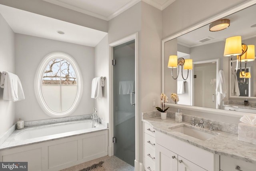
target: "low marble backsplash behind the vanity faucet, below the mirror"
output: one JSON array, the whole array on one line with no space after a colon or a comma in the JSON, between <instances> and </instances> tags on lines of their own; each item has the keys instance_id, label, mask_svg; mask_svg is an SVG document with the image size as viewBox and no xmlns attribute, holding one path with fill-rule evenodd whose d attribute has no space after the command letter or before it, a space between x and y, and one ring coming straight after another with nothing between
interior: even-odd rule
<instances>
[{"instance_id":1,"label":"low marble backsplash behind the vanity faucet, below the mirror","mask_svg":"<svg viewBox=\"0 0 256 171\"><path fill-rule=\"evenodd\" d=\"M160 112L159 111L150 111L150 112L143 112L142 113L142 119L148 119L148 118L152 118L152 117L158 117L160 116ZM175 112L170 112L167 111L167 116L168 118L171 119L175 119ZM186 115L184 113L182 113L182 121L183 122L187 122L187 123L192 123L192 118L195 119L195 123L199 123L200 122L200 117L194 117L191 115ZM203 118L204 121L204 127L205 128L209 128L210 127L210 122L213 122L213 129L214 130L219 130L219 131L224 131L227 133L232 133L235 135L238 135L238 125L237 124L233 124L233 123L227 123L227 122L222 122L222 121L215 121L212 119L206 119Z\"/></svg>"}]
</instances>

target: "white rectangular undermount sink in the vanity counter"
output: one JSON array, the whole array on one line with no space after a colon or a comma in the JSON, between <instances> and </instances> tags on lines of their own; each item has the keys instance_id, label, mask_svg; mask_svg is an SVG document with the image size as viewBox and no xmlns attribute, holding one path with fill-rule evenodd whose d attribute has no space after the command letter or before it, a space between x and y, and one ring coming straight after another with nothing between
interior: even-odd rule
<instances>
[{"instance_id":1,"label":"white rectangular undermount sink in the vanity counter","mask_svg":"<svg viewBox=\"0 0 256 171\"><path fill-rule=\"evenodd\" d=\"M218 133L214 133L214 132L211 132L211 131L208 131L205 129L204 129L204 131L201 131L200 129L202 129L202 128L192 127L189 125L181 125L179 127L170 127L169 129L186 134L190 137L194 137L194 138L197 138L197 139L200 139L203 141L218 135ZM207 132L205 132L205 131L207 131Z\"/></svg>"}]
</instances>

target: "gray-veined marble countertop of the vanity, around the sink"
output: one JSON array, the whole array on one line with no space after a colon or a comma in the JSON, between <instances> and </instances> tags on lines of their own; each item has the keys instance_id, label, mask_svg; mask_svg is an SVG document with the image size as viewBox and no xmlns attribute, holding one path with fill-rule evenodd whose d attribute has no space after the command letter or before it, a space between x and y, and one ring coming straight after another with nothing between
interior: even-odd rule
<instances>
[{"instance_id":1,"label":"gray-veined marble countertop of the vanity, around the sink","mask_svg":"<svg viewBox=\"0 0 256 171\"><path fill-rule=\"evenodd\" d=\"M206 151L256 164L256 145L239 141L238 135L214 130L212 132L217 135L203 141L170 129L182 124L191 125L187 122L177 123L174 119L166 118L166 120L162 120L160 117L142 119L142 121L152 125L157 131L195 145L196 147L200 147ZM201 129L204 132L209 131L208 128L196 127L196 129Z\"/></svg>"}]
</instances>

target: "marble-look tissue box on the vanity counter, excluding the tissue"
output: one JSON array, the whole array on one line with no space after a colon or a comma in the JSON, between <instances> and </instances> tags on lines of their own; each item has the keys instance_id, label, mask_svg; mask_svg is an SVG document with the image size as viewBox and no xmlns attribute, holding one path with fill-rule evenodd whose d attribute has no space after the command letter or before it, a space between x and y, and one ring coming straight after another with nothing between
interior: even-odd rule
<instances>
[{"instance_id":1,"label":"marble-look tissue box on the vanity counter, excluding the tissue","mask_svg":"<svg viewBox=\"0 0 256 171\"><path fill-rule=\"evenodd\" d=\"M256 125L238 123L238 140L256 145Z\"/></svg>"}]
</instances>

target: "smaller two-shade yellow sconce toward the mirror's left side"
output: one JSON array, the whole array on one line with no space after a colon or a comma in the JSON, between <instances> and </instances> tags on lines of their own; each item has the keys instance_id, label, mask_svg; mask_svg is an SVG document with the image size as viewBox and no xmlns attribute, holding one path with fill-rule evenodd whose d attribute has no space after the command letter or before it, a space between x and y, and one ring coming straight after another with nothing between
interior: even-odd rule
<instances>
[{"instance_id":1,"label":"smaller two-shade yellow sconce toward the mirror's left side","mask_svg":"<svg viewBox=\"0 0 256 171\"><path fill-rule=\"evenodd\" d=\"M171 55L169 56L169 61L168 61L168 68L172 68L172 78L174 80L176 80L180 74L180 66L181 66L181 75L182 75L182 78L183 80L187 80L188 79L188 74L187 74L187 77L186 79L183 77L183 66L184 66L184 70L192 70L193 69L193 62L192 62L192 59L184 59L184 58L178 58L178 56L176 55ZM174 78L173 77L173 68L178 68L178 74L177 74L177 77Z\"/></svg>"}]
</instances>

